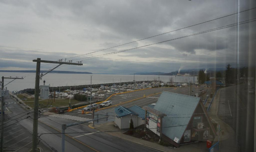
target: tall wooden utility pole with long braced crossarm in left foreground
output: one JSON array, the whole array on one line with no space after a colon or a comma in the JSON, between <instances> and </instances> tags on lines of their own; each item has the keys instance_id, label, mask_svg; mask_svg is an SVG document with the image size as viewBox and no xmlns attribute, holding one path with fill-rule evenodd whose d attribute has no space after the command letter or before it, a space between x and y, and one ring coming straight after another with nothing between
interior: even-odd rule
<instances>
[{"instance_id":1,"label":"tall wooden utility pole with long braced crossarm in left foreground","mask_svg":"<svg viewBox=\"0 0 256 152\"><path fill-rule=\"evenodd\" d=\"M36 69L36 81L35 81L35 99L34 99L34 121L33 121L33 134L32 134L32 151L37 152L37 131L38 131L38 100L39 100L39 82L40 82L40 65L42 63L56 63L59 64L52 70L56 69L62 64L69 64L69 65L83 65L81 64L81 61L78 63L72 63L71 60L69 62L62 62L62 59L59 61L47 61L47 60L41 60L41 58L34 59L33 62L37 62L37 69ZM47 73L51 72L52 70L48 71ZM46 75L45 73L44 75ZM41 78L44 76L41 75Z\"/></svg>"}]
</instances>

